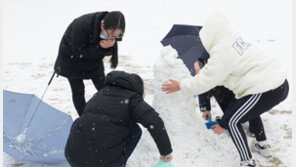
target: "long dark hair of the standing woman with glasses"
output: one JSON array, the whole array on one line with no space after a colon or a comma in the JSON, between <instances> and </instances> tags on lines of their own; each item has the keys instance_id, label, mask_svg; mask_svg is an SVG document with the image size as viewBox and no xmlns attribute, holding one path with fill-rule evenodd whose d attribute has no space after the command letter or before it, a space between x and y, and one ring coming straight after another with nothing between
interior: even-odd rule
<instances>
[{"instance_id":1,"label":"long dark hair of the standing woman with glasses","mask_svg":"<svg viewBox=\"0 0 296 167\"><path fill-rule=\"evenodd\" d=\"M125 19L123 14L120 11L113 11L104 17L104 29L105 30L115 30L120 29L122 31L122 35L125 31ZM112 57L110 59L111 68L115 69L118 65L118 46L117 41L121 41L121 39L117 39L114 46L112 47Z\"/></svg>"}]
</instances>

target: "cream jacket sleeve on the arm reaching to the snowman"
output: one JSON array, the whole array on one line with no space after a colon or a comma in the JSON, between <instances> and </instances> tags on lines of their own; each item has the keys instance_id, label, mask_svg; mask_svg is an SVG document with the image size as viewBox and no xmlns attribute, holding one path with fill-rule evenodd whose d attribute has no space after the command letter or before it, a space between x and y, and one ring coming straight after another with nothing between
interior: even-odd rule
<instances>
[{"instance_id":1,"label":"cream jacket sleeve on the arm reaching to the snowman","mask_svg":"<svg viewBox=\"0 0 296 167\"><path fill-rule=\"evenodd\" d=\"M202 94L221 84L229 75L227 58L219 52L211 54L208 63L193 78L183 79L181 91L190 94Z\"/></svg>"}]
</instances>

